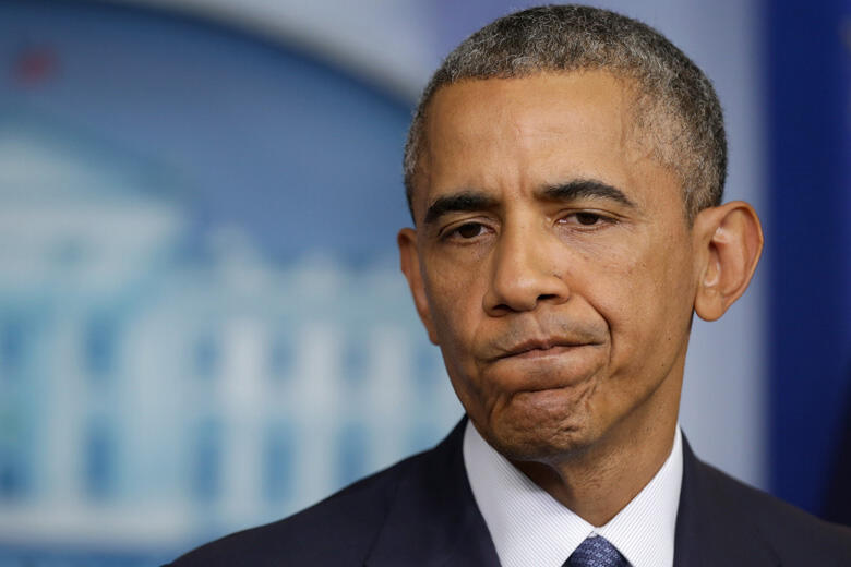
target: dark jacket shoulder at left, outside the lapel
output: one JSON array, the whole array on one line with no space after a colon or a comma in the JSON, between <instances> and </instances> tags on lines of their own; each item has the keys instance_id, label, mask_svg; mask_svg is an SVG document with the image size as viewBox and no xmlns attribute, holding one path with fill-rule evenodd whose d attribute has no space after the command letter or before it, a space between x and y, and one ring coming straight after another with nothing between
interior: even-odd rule
<instances>
[{"instance_id":1,"label":"dark jacket shoulder at left, outside the lapel","mask_svg":"<svg viewBox=\"0 0 851 567\"><path fill-rule=\"evenodd\" d=\"M362 562L377 538L399 483L428 458L429 451L409 457L293 516L207 543L171 565L265 566L280 565L284 558L288 565Z\"/></svg>"}]
</instances>

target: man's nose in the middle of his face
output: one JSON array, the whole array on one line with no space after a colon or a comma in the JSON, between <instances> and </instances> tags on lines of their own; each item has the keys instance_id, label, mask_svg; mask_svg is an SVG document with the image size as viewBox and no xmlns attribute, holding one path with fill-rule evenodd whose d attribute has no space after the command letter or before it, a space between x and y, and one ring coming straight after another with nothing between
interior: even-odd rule
<instances>
[{"instance_id":1,"label":"man's nose in the middle of his face","mask_svg":"<svg viewBox=\"0 0 851 567\"><path fill-rule=\"evenodd\" d=\"M490 316L534 311L542 302L560 304L571 290L560 274L552 236L534 224L504 227L492 254L491 281L483 298Z\"/></svg>"}]
</instances>

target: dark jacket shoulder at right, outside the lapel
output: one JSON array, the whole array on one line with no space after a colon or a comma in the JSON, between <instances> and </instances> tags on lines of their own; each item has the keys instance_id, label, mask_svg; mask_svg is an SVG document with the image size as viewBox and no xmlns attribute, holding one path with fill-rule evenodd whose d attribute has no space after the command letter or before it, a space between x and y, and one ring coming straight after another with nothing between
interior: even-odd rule
<instances>
[{"instance_id":1,"label":"dark jacket shoulder at right, outside the lapel","mask_svg":"<svg viewBox=\"0 0 851 567\"><path fill-rule=\"evenodd\" d=\"M823 521L709 465L698 462L698 470L714 500L708 521L753 534L783 564L851 564L851 528Z\"/></svg>"}]
</instances>

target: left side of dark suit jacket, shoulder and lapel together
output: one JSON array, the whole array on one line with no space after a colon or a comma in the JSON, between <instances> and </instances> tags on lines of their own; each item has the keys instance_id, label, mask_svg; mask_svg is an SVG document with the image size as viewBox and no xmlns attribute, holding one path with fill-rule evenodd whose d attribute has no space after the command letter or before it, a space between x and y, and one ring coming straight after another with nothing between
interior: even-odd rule
<instances>
[{"instance_id":1,"label":"left side of dark suit jacket, shoulder and lapel together","mask_svg":"<svg viewBox=\"0 0 851 567\"><path fill-rule=\"evenodd\" d=\"M469 520L469 507L475 507L462 457L465 423L462 420L433 449L367 476L295 516L203 545L172 566L360 566L375 556L413 559L411 553L447 547L458 534L480 535L475 530L464 532L469 526L463 520ZM435 526L445 529L434 530ZM411 565L411 560L385 564Z\"/></svg>"}]
</instances>

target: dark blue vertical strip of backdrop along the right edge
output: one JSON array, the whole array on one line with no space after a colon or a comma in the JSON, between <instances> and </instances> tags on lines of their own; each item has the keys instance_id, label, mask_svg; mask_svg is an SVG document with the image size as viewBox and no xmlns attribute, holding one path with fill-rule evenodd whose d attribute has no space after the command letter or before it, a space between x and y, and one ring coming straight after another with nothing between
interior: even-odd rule
<instances>
[{"instance_id":1,"label":"dark blue vertical strip of backdrop along the right edge","mask_svg":"<svg viewBox=\"0 0 851 567\"><path fill-rule=\"evenodd\" d=\"M851 410L851 2L765 14L771 488L820 512Z\"/></svg>"}]
</instances>

